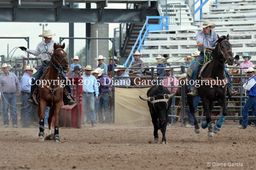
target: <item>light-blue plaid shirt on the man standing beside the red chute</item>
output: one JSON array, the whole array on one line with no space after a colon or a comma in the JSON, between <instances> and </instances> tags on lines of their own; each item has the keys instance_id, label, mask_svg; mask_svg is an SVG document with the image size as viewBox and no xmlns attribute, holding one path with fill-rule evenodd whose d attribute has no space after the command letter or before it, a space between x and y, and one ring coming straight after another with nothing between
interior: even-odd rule
<instances>
[{"instance_id":1,"label":"light-blue plaid shirt on the man standing beside the red chute","mask_svg":"<svg viewBox=\"0 0 256 170\"><path fill-rule=\"evenodd\" d=\"M89 77L86 74L81 76L83 78L83 90L84 92L95 92L95 95L99 94L99 84L94 76L90 74Z\"/></svg>"}]
</instances>

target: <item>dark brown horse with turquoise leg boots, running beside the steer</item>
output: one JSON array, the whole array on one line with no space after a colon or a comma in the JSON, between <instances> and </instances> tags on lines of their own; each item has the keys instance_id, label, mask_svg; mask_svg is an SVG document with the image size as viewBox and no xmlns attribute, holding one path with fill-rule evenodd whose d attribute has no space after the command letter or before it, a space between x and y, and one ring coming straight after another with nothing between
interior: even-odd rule
<instances>
[{"instance_id":1,"label":"dark brown horse with turquoise leg boots, running beside the steer","mask_svg":"<svg viewBox=\"0 0 256 170\"><path fill-rule=\"evenodd\" d=\"M228 40L228 35L227 37L218 36L218 40L216 41L217 45L214 49L212 61L202 72L201 80L203 80L203 83L200 83L200 86L197 88L197 94L201 97L202 105L206 115L206 121L201 123L201 127L203 129L208 127L208 137L213 137L213 132L218 133L220 131L221 125L223 124L225 116L227 115L228 112L226 99L227 80L224 79L223 74L226 63L228 63L228 65L233 65L234 63L234 57L232 55L232 45ZM187 75L186 78L190 80L190 76ZM218 79L219 81L217 82L216 79ZM200 133L200 128L196 120L195 109L193 107L193 96L188 95L189 89L187 83L185 84L185 89L187 89L186 93L189 109L194 118L194 131L198 134ZM217 124L214 125L214 129L212 129L211 115L215 101L218 101L218 103L223 108L223 111Z\"/></svg>"}]
</instances>

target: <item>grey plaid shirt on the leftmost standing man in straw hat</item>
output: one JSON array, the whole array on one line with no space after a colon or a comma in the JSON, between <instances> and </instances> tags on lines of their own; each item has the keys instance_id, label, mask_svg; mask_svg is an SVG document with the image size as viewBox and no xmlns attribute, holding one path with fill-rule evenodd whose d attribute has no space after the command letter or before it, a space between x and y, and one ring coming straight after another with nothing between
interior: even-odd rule
<instances>
[{"instance_id":1,"label":"grey plaid shirt on the leftmost standing man in straw hat","mask_svg":"<svg viewBox=\"0 0 256 170\"><path fill-rule=\"evenodd\" d=\"M16 87L18 92L20 92L20 81L17 78L17 76L9 72L9 74L2 73L0 76L0 92L2 93L15 93L16 92Z\"/></svg>"}]
</instances>

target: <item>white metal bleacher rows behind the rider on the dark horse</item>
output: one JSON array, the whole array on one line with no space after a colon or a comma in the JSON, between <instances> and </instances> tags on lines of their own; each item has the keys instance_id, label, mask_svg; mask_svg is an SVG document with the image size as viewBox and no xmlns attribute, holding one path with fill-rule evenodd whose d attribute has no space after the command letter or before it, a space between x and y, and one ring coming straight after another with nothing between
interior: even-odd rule
<instances>
[{"instance_id":1,"label":"white metal bleacher rows behind the rider on the dark horse","mask_svg":"<svg viewBox=\"0 0 256 170\"><path fill-rule=\"evenodd\" d=\"M219 36L229 34L233 55L252 55L256 62L256 1L252 0L218 0L209 5L209 12L202 13L202 20L195 21L195 26L170 26L168 30L149 31L147 40L142 44L140 52L144 62L154 61L158 54L169 56L191 55L197 48L196 35L202 30L199 27L204 20L216 24L213 29ZM170 58L174 62L177 58ZM178 62L181 62L178 61ZM182 61L184 62L184 60ZM176 64L173 64L176 65ZM178 63L177 63L178 65Z\"/></svg>"}]
</instances>

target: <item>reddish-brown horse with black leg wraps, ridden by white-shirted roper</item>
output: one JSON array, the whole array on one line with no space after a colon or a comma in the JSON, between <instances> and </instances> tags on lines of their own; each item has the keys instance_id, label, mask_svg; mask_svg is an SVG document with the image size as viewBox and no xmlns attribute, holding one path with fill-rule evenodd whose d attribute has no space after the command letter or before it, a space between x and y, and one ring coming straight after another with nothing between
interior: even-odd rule
<instances>
[{"instance_id":1,"label":"reddish-brown horse with black leg wraps, ridden by white-shirted roper","mask_svg":"<svg viewBox=\"0 0 256 170\"><path fill-rule=\"evenodd\" d=\"M44 118L45 118L45 107L50 107L48 124L49 133L51 134L52 117L54 116L54 142L60 142L59 138L59 114L61 108L61 101L63 96L63 82L60 81L60 72L67 73L70 69L70 65L67 59L67 53L63 50L63 45L54 44L54 51L51 57L51 63L48 73L39 85L38 92L40 94L39 103L37 105L37 114L39 117L39 141L44 141ZM54 65L53 65L54 64ZM46 80L46 84L44 83ZM49 81L48 81L49 80Z\"/></svg>"}]
</instances>

